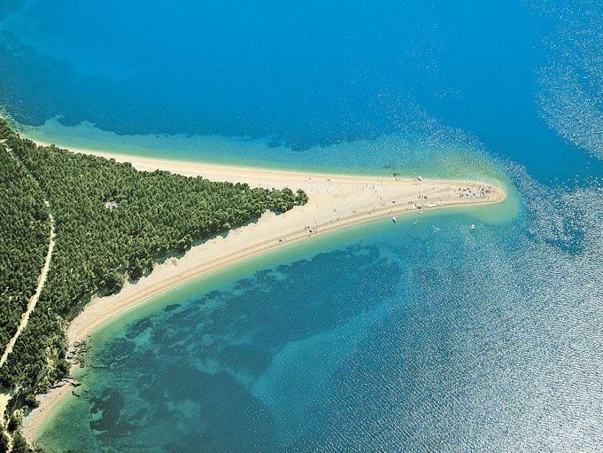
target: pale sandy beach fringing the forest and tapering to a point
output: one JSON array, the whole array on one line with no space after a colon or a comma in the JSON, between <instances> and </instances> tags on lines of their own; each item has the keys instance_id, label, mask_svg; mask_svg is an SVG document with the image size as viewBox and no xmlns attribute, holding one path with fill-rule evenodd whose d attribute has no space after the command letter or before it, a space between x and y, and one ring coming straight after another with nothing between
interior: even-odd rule
<instances>
[{"instance_id":1,"label":"pale sandy beach fringing the forest and tapering to a point","mask_svg":"<svg viewBox=\"0 0 603 453\"><path fill-rule=\"evenodd\" d=\"M305 206L294 207L282 215L266 213L256 223L229 231L226 237L219 236L194 246L177 261L170 259L157 265L150 276L135 284L124 285L118 294L93 298L68 328L71 345L84 340L108 319L120 316L158 293L277 247L383 217L497 203L506 197L499 187L479 182L297 173L156 160L89 150L73 151L129 161L140 170L162 169L185 176L204 176L215 181L247 183L256 187L290 187L293 191L300 188L307 193L309 201ZM24 419L23 428L28 441L35 439L36 430L43 425L52 408L72 390L73 387L66 384L38 396L40 407Z\"/></svg>"}]
</instances>

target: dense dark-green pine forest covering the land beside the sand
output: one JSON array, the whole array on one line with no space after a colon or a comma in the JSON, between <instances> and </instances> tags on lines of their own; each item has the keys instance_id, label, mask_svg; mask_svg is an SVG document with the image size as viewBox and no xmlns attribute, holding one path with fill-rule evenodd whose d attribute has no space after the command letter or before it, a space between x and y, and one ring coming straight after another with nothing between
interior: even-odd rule
<instances>
[{"instance_id":1,"label":"dense dark-green pine forest covering the land beside the sand","mask_svg":"<svg viewBox=\"0 0 603 453\"><path fill-rule=\"evenodd\" d=\"M50 239L44 199L56 233L40 300L0 369L0 383L17 390L11 410L31 404L34 394L66 375L66 325L94 294L117 293L126 278L151 272L167 256L252 222L266 210L281 213L307 201L303 191L142 172L128 163L37 146L2 119L0 140L5 140L0 145L4 344L43 267Z\"/></svg>"}]
</instances>

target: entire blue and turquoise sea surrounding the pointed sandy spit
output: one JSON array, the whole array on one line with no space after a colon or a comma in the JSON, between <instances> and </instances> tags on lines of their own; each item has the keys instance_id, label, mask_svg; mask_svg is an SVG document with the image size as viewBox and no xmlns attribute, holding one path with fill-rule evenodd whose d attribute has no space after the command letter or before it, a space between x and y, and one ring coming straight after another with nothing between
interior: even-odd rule
<instances>
[{"instance_id":1,"label":"entire blue and turquoise sea surrounding the pointed sandy spit","mask_svg":"<svg viewBox=\"0 0 603 453\"><path fill-rule=\"evenodd\" d=\"M57 144L512 194L105 326L45 449L600 451L601 2L5 0L0 105Z\"/></svg>"}]
</instances>

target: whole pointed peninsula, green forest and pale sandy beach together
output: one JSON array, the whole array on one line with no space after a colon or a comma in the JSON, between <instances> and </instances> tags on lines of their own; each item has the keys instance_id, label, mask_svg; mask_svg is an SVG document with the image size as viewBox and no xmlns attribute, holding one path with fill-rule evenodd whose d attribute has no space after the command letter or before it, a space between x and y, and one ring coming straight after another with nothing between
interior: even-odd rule
<instances>
[{"instance_id":1,"label":"whole pointed peninsula, green forest and pale sandy beach together","mask_svg":"<svg viewBox=\"0 0 603 453\"><path fill-rule=\"evenodd\" d=\"M505 199L499 187L473 181L67 151L19 137L4 120L0 164L9 213L0 247L1 434L13 445L34 441L71 393L74 348L151 296L330 230Z\"/></svg>"}]
</instances>

